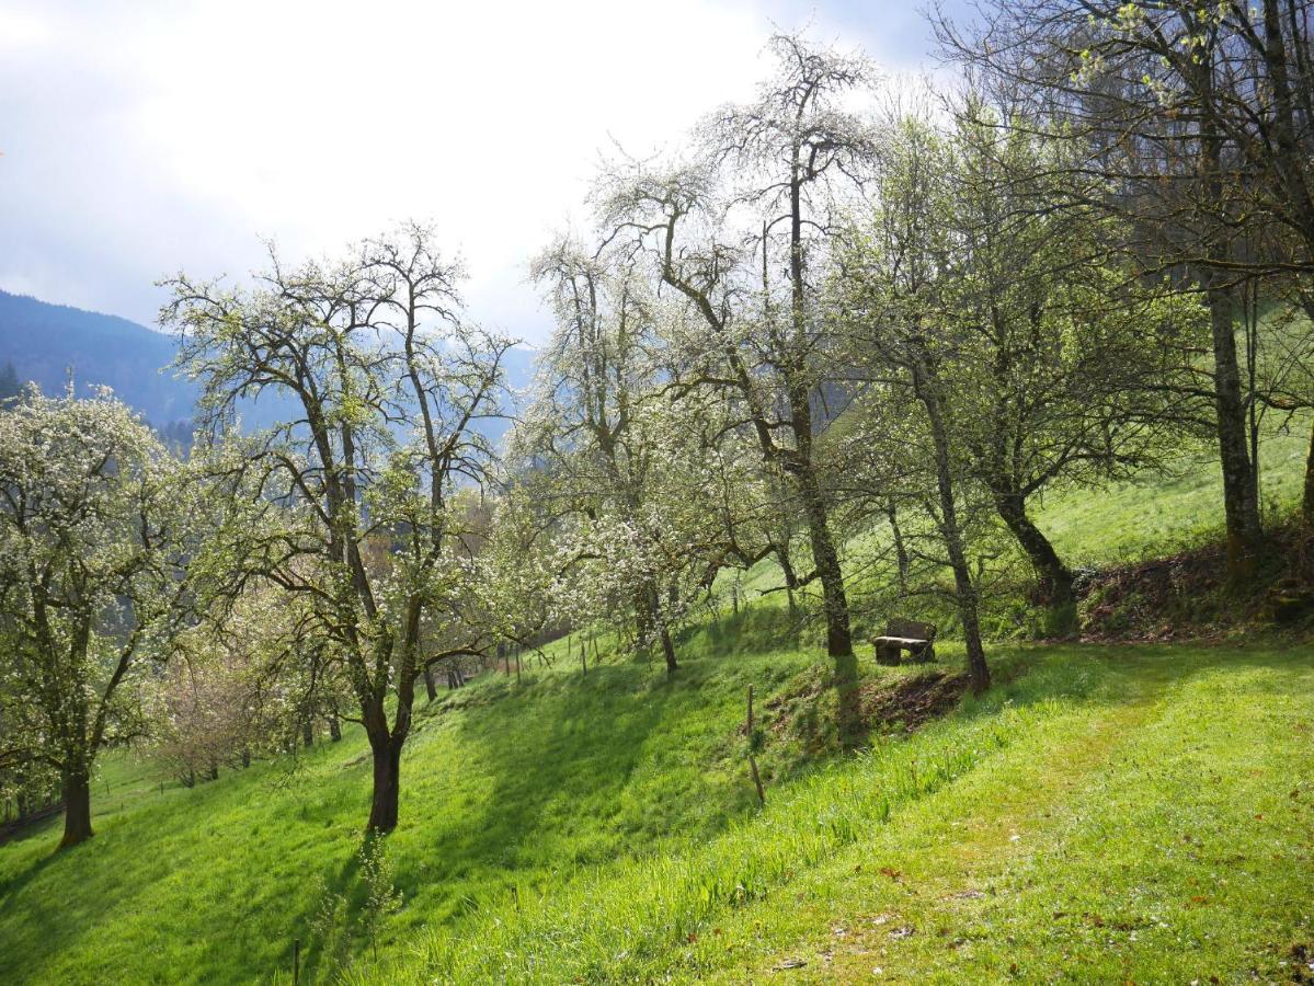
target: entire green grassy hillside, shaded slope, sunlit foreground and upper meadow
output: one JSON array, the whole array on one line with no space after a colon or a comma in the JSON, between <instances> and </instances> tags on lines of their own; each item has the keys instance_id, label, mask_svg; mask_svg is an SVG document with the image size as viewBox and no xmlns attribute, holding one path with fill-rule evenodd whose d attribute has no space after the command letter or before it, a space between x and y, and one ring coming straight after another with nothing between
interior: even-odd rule
<instances>
[{"instance_id":1,"label":"entire green grassy hillside, shaded slope, sunlit foreground and upper meadow","mask_svg":"<svg viewBox=\"0 0 1314 986\"><path fill-rule=\"evenodd\" d=\"M1281 502L1303 445L1268 445ZM1051 498L1041 521L1074 559L1117 561L1217 528L1217 504L1213 471L1188 470ZM616 659L581 681L561 662L427 719L389 840L406 906L359 975L741 981L798 957L791 975L817 981L1014 962L1229 981L1314 945L1309 649L996 649L1005 672L1031 670L869 758L809 772L824 708L773 733L759 813L744 685L765 704L824 674L815 651L727 656L774 626L750 609L704 630L674 684ZM364 755L350 734L292 784L261 765L163 793L148 765L106 759L92 843L53 856L51 822L0 846L0 982L261 981L293 937L322 970L314 914L360 897Z\"/></svg>"}]
</instances>

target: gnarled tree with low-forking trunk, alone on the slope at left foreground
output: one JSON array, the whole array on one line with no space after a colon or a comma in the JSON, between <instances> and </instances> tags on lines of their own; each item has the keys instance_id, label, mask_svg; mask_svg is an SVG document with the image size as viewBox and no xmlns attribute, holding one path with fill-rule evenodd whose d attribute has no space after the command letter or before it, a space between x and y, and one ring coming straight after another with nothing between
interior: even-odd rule
<instances>
[{"instance_id":1,"label":"gnarled tree with low-forking trunk, alone on the slope at left foreground","mask_svg":"<svg viewBox=\"0 0 1314 986\"><path fill-rule=\"evenodd\" d=\"M259 579L309 611L322 646L304 653L351 688L373 755L368 828L381 832L397 826L424 621L465 620L477 580L456 492L489 482L481 425L502 414L511 340L464 319L460 276L411 225L335 265L272 257L254 290L180 276L162 318L204 385L212 439L244 399L277 393L297 408L215 442L209 467L231 495L205 567L218 596Z\"/></svg>"}]
</instances>

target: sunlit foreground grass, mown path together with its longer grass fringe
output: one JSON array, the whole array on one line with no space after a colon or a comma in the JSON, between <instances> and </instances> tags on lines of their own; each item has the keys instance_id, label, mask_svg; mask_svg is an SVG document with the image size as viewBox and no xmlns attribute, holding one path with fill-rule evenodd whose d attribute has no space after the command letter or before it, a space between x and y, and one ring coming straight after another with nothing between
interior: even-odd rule
<instances>
[{"instance_id":1,"label":"sunlit foreground grass, mown path together with its longer grass fringe","mask_svg":"<svg viewBox=\"0 0 1314 986\"><path fill-rule=\"evenodd\" d=\"M355 978L1289 974L1293 949L1314 949L1310 651L1021 659L1034 667L1010 685L711 843L493 907Z\"/></svg>"}]
</instances>

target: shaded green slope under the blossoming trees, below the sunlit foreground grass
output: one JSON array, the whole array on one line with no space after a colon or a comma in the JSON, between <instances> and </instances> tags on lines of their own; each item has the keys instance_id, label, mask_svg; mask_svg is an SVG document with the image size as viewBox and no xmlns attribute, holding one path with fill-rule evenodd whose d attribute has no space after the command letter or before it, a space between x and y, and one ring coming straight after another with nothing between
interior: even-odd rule
<instances>
[{"instance_id":1,"label":"shaded green slope under the blossoming trees, below the sunlit foreground grass","mask_svg":"<svg viewBox=\"0 0 1314 986\"><path fill-rule=\"evenodd\" d=\"M468 708L424 718L407 744L390 840L407 906L389 936L510 884L530 891L677 832L715 834L753 797L727 759L742 684L770 688L808 663L710 659L674 684L656 664L585 680L535 670L519 691L491 679L456 693ZM108 758L91 843L51 856L51 821L0 847L0 982L242 981L286 964L326 888L356 893L368 777L355 730L294 779L267 764L163 794L147 767Z\"/></svg>"}]
</instances>

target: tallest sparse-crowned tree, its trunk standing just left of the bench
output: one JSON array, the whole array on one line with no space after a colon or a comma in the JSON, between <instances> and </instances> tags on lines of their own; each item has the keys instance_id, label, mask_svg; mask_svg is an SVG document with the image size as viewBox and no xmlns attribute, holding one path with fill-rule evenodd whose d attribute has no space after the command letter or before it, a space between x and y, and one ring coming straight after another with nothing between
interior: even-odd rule
<instances>
[{"instance_id":1,"label":"tallest sparse-crowned tree, its trunk standing just left of the bench","mask_svg":"<svg viewBox=\"0 0 1314 986\"><path fill-rule=\"evenodd\" d=\"M794 35L773 38L771 51L777 71L756 100L711 114L674 163L623 163L604 176L598 198L602 222L645 248L653 277L700 330L686 333L673 362L681 393L715 394L766 470L787 479L813 567L799 582L821 586L841 717L855 725L857 660L832 529L833 477L816 441L819 399L836 368L820 285L830 232L874 163L875 134L849 109L874 72L861 56Z\"/></svg>"}]
</instances>

